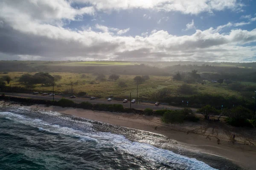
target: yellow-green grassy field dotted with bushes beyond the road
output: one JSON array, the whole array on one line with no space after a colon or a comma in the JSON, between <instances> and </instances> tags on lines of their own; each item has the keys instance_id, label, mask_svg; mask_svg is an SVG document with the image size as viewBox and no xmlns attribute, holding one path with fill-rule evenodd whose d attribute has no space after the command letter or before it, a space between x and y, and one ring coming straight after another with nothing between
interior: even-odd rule
<instances>
[{"instance_id":1,"label":"yellow-green grassy field dotted with bushes beyond the road","mask_svg":"<svg viewBox=\"0 0 256 170\"><path fill-rule=\"evenodd\" d=\"M18 78L25 72L9 72L8 74L12 78L11 83L8 86L23 86L18 81ZM35 74L31 72L30 74ZM137 85L133 78L135 75L120 75L119 79L116 81L108 81L109 75L106 75L107 81L97 81L96 75L92 74L79 74L79 73L69 73L69 72L51 72L50 75L61 75L62 79L56 81L55 91L56 92L70 92L71 82L73 82L73 92L76 94L78 92L87 92L89 96L97 97L113 97L128 98L130 92L132 97L135 98L137 95ZM124 81L126 87L120 87L118 85L119 81ZM160 89L167 88L171 89L170 96L186 96L178 91L178 88L184 84L183 81L175 81L172 77L167 76L150 76L150 80L143 82L138 86L139 96L144 99L152 98L154 92ZM219 85L218 83L208 82L206 85L201 85L198 83L190 84L195 88L196 94L218 94L223 96L234 95L241 96L239 92L232 91L227 88L226 84ZM52 86L42 86L37 84L34 91L51 91Z\"/></svg>"}]
</instances>

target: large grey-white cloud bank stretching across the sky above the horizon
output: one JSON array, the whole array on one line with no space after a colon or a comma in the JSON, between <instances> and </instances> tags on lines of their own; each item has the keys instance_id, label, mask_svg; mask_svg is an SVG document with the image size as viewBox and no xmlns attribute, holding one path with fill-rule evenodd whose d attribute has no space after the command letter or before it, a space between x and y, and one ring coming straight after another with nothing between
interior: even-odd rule
<instances>
[{"instance_id":1,"label":"large grey-white cloud bank stretching across the sky above the horizon","mask_svg":"<svg viewBox=\"0 0 256 170\"><path fill-rule=\"evenodd\" d=\"M174 0L168 2L171 1L175 2ZM39 2L39 0L17 2L20 4L17 5L13 1L0 3L0 41L4 41L0 43L0 56L3 56L2 54L4 56L36 56L45 59L84 56L106 59L109 56L113 58L127 56L133 60L159 56L164 59L172 55L176 60L243 61L255 57L256 54L255 46L243 46L256 42L256 29L251 31L236 29L220 33L225 27L241 26L245 24L243 22L227 23L216 29L196 30L192 35L176 36L164 30L154 29L150 35L144 33L144 36L122 36L130 28L117 29L96 24L94 28L84 26L82 30L77 30L56 24L62 20L78 20L81 17L81 9L73 9L69 6L69 1L47 1L49 4L41 5L38 13L25 9L26 6L36 5L31 2ZM46 0L40 0L40 3L42 2ZM61 9L56 9L56 14L50 10L49 14L52 17L48 17L49 8L56 2L60 3ZM108 3L105 6L108 6ZM100 6L98 8L100 9ZM187 28L194 27L193 20L187 24Z\"/></svg>"}]
</instances>

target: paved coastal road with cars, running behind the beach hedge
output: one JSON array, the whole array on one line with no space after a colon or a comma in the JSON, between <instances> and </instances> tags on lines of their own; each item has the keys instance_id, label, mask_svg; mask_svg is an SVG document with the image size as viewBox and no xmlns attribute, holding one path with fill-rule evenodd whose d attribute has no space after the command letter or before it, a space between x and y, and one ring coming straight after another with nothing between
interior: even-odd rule
<instances>
[{"instance_id":1,"label":"paved coastal road with cars, running behind the beach hedge","mask_svg":"<svg viewBox=\"0 0 256 170\"><path fill-rule=\"evenodd\" d=\"M23 98L36 98L36 99L44 99L44 100L52 100L52 97L48 95L33 95L33 94L27 94L27 93L10 93L10 92L5 92L6 96L13 96L13 97L23 97ZM61 98L68 98L67 96L61 96L61 95L55 95L54 100L58 101ZM88 101L92 104L122 104L125 108L130 108L130 102L128 103L122 103L122 101L107 101L107 99L95 99L95 100L90 100L90 98L72 98L70 100L75 101L76 103L81 103L83 101ZM131 107L134 109L146 109L150 108L153 110L159 110L159 109L170 109L170 110L175 110L175 109L183 109L183 107L173 107L173 106L168 106L168 105L159 105L155 106L154 104L149 104L149 103L144 103L144 104L131 104ZM197 110L195 108L191 108L194 112Z\"/></svg>"}]
</instances>

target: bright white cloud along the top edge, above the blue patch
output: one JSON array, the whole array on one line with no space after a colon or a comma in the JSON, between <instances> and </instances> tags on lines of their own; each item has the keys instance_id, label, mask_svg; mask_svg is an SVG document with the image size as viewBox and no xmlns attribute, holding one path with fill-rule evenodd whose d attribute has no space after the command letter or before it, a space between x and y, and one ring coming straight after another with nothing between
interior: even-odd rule
<instances>
[{"instance_id":1,"label":"bright white cloud along the top edge, above the blue patch","mask_svg":"<svg viewBox=\"0 0 256 170\"><path fill-rule=\"evenodd\" d=\"M177 11L184 14L212 13L230 9L241 11L240 0L74 0L90 3L97 10L153 9L166 12Z\"/></svg>"}]
</instances>

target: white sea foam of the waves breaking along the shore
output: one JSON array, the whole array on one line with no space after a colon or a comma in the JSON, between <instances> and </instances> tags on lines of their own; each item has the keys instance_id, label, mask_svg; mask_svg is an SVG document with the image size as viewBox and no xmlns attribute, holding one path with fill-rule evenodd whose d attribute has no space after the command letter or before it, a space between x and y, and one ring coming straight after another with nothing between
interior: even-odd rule
<instances>
[{"instance_id":1,"label":"white sea foam of the waves breaking along the shore","mask_svg":"<svg viewBox=\"0 0 256 170\"><path fill-rule=\"evenodd\" d=\"M0 112L0 116L8 116L9 118L14 118L15 121L19 121L20 123L38 127L39 131L46 130L51 133L60 133L78 137L78 142L95 141L98 147L114 147L124 153L142 157L148 161L166 164L173 168L176 167L186 170L214 170L214 168L202 161L196 160L195 158L181 156L173 153L172 151L151 146L150 144L133 142L125 138L123 135L94 131L84 133L81 130L75 130L70 127L61 127L56 124L47 124L47 122L42 121L41 119L30 119L12 112ZM65 116L63 116L63 118L64 120L70 121L69 118L65 118ZM79 123L82 123L82 121Z\"/></svg>"}]
</instances>

